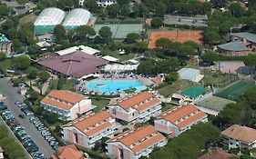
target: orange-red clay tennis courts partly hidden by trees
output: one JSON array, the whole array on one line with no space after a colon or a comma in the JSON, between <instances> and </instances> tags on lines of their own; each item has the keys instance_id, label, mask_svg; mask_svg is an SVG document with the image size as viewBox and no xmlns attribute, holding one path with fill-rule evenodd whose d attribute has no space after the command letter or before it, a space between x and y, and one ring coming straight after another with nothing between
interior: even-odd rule
<instances>
[{"instance_id":1,"label":"orange-red clay tennis courts partly hidden by trees","mask_svg":"<svg viewBox=\"0 0 256 159\"><path fill-rule=\"evenodd\" d=\"M188 41L195 42L197 44L201 44L202 41L202 31L163 31L163 32L152 32L148 41L148 48L154 49L156 48L156 41L160 37L169 38L169 40L179 43L184 43Z\"/></svg>"}]
</instances>

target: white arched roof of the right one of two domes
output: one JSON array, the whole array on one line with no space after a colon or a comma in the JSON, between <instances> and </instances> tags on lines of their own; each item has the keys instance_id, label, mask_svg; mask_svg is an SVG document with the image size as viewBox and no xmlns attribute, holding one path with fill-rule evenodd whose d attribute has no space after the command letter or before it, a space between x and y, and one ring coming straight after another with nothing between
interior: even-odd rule
<instances>
[{"instance_id":1,"label":"white arched roof of the right one of two domes","mask_svg":"<svg viewBox=\"0 0 256 159\"><path fill-rule=\"evenodd\" d=\"M91 13L86 9L73 9L66 16L62 25L64 26L74 26L74 25L87 25L89 19L91 17Z\"/></svg>"}]
</instances>

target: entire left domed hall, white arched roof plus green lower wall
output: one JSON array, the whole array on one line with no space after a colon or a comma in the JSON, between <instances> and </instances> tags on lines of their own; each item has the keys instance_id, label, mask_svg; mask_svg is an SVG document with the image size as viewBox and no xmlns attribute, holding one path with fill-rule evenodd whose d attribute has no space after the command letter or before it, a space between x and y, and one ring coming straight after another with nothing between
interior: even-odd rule
<instances>
[{"instance_id":1,"label":"entire left domed hall, white arched roof plus green lower wall","mask_svg":"<svg viewBox=\"0 0 256 159\"><path fill-rule=\"evenodd\" d=\"M36 35L53 32L55 26L60 25L64 17L65 13L61 9L54 7L44 9L34 23Z\"/></svg>"}]
</instances>

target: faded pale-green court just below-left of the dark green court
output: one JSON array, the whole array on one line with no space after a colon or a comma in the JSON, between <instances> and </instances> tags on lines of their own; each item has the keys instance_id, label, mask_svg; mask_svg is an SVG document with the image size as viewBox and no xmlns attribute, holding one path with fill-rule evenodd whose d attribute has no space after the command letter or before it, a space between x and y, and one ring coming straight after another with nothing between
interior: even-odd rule
<instances>
[{"instance_id":1,"label":"faded pale-green court just below-left of the dark green court","mask_svg":"<svg viewBox=\"0 0 256 159\"><path fill-rule=\"evenodd\" d=\"M220 110L222 110L226 104L231 103L235 102L229 99L221 98L219 96L211 95L209 98L197 103L197 105L220 112Z\"/></svg>"}]
</instances>

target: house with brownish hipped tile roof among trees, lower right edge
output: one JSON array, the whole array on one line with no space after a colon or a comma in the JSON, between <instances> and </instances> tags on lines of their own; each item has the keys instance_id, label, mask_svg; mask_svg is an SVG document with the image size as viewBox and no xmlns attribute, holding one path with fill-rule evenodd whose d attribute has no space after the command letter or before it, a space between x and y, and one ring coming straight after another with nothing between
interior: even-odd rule
<instances>
[{"instance_id":1,"label":"house with brownish hipped tile roof among trees, lower right edge","mask_svg":"<svg viewBox=\"0 0 256 159\"><path fill-rule=\"evenodd\" d=\"M251 127L233 124L222 131L221 134L222 144L227 145L229 149L251 149L256 147L256 130Z\"/></svg>"}]
</instances>

